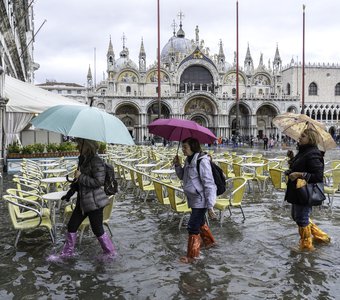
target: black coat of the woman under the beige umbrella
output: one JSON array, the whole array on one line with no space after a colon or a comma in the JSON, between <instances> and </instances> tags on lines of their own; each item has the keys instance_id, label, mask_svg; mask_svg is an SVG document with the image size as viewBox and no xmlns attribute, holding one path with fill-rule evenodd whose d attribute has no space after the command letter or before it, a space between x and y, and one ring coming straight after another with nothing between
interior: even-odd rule
<instances>
[{"instance_id":1,"label":"black coat of the woman under the beige umbrella","mask_svg":"<svg viewBox=\"0 0 340 300\"><path fill-rule=\"evenodd\" d=\"M316 146L303 145L299 147L298 154L290 161L289 175L292 172L306 173L308 183L323 182L324 160ZM302 204L296 192L296 180L288 179L285 200L293 204Z\"/></svg>"}]
</instances>

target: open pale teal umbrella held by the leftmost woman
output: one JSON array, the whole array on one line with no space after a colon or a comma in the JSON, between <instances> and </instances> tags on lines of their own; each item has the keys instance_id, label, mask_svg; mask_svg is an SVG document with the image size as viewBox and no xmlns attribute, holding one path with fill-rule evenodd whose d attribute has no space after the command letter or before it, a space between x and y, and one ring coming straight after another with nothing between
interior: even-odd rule
<instances>
[{"instance_id":1,"label":"open pale teal umbrella held by the leftmost woman","mask_svg":"<svg viewBox=\"0 0 340 300\"><path fill-rule=\"evenodd\" d=\"M92 106L53 106L35 117L31 123L36 128L65 136L134 145L131 134L120 119Z\"/></svg>"}]
</instances>

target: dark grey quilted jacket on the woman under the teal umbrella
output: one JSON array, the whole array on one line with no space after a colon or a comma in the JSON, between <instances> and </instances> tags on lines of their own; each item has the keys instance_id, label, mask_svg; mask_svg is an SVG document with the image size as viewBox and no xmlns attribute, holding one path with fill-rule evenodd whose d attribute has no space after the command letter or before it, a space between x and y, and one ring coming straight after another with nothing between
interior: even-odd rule
<instances>
[{"instance_id":1,"label":"dark grey quilted jacket on the woman under the teal umbrella","mask_svg":"<svg viewBox=\"0 0 340 300\"><path fill-rule=\"evenodd\" d=\"M86 157L80 166L78 178L78 203L84 213L105 207L108 196L103 186L105 181L105 163L98 156Z\"/></svg>"}]
</instances>

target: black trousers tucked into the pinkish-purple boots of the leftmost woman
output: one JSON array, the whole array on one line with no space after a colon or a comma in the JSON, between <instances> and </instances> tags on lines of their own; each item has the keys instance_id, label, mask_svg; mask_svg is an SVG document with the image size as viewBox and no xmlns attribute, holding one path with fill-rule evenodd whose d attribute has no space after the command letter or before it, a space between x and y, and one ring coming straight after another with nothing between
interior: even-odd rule
<instances>
[{"instance_id":1,"label":"black trousers tucked into the pinkish-purple boots of the leftmost woman","mask_svg":"<svg viewBox=\"0 0 340 300\"><path fill-rule=\"evenodd\" d=\"M68 232L77 232L80 224L84 221L86 217L89 217L91 229L96 237L100 237L104 234L103 227L103 209L99 208L93 211L90 211L83 215L83 212L80 209L79 203L77 203L70 221L67 224Z\"/></svg>"}]
</instances>

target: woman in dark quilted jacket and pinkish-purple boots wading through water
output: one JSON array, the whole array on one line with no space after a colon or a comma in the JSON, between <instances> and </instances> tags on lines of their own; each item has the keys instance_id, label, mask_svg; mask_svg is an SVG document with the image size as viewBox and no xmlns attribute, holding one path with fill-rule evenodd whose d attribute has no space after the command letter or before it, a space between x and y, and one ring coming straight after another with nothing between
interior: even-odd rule
<instances>
[{"instance_id":1,"label":"woman in dark quilted jacket and pinkish-purple boots wading through water","mask_svg":"<svg viewBox=\"0 0 340 300\"><path fill-rule=\"evenodd\" d=\"M93 233L97 237L106 257L114 256L116 251L110 237L103 228L103 209L109 199L102 188L105 181L105 163L97 155L98 144L93 140L77 138L80 152L79 168L75 171L73 189L63 200L67 200L77 186L77 204L67 225L66 242L59 256L50 256L49 260L69 258L74 255L77 230L83 220L89 217Z\"/></svg>"}]
</instances>

